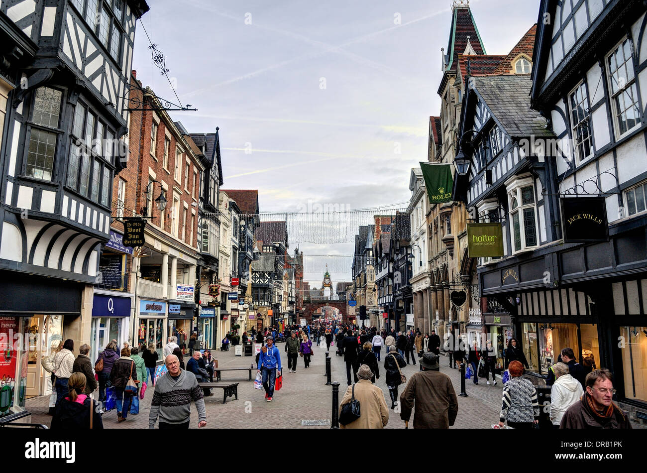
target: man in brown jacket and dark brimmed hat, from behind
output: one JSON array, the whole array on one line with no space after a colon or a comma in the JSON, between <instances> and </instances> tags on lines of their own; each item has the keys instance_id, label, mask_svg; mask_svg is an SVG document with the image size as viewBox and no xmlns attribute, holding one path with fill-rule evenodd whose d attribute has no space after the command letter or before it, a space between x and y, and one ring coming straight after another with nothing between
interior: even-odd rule
<instances>
[{"instance_id":1,"label":"man in brown jacket and dark brimmed hat, from behind","mask_svg":"<svg viewBox=\"0 0 647 473\"><path fill-rule=\"evenodd\" d=\"M400 395L400 419L409 421L415 402L413 428L449 428L458 414L452 381L440 372L435 353L425 353L420 363L422 371L411 376Z\"/></svg>"}]
</instances>

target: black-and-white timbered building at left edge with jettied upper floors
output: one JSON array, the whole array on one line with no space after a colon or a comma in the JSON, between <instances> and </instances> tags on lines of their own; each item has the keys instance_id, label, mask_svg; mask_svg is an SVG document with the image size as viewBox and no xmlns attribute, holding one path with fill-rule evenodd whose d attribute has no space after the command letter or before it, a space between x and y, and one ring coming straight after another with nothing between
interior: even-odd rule
<instances>
[{"instance_id":1,"label":"black-and-white timbered building at left edge with jettied upper floors","mask_svg":"<svg viewBox=\"0 0 647 473\"><path fill-rule=\"evenodd\" d=\"M16 353L0 423L28 422L25 397L52 390L40 363L52 342L91 343L113 178L127 160L135 24L148 9L144 0L0 0L0 315L45 344ZM107 302L129 312L117 306Z\"/></svg>"}]
</instances>

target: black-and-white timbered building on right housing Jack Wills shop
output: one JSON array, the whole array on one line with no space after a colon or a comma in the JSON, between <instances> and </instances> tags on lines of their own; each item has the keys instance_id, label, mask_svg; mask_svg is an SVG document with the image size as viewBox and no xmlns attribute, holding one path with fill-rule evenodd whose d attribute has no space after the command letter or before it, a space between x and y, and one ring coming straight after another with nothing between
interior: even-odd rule
<instances>
[{"instance_id":1,"label":"black-and-white timbered building on right housing Jack Wills shop","mask_svg":"<svg viewBox=\"0 0 647 473\"><path fill-rule=\"evenodd\" d=\"M477 261L481 305L497 313L485 322L510 325L537 386L565 347L611 369L635 424L647 418L646 27L642 1L542 0L531 75L473 78L471 170L455 185L474 221L503 226L504 256ZM565 241L562 205L583 197L602 198L608 241Z\"/></svg>"}]
</instances>

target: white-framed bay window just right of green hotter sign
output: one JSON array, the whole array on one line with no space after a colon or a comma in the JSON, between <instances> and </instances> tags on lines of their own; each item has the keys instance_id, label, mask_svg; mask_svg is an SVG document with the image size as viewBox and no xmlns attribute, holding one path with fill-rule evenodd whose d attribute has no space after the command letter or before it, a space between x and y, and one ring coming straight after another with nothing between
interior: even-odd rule
<instances>
[{"instance_id":1,"label":"white-framed bay window just right of green hotter sign","mask_svg":"<svg viewBox=\"0 0 647 473\"><path fill-rule=\"evenodd\" d=\"M530 175L514 176L505 184L508 190L510 240L514 254L538 245L534 185Z\"/></svg>"}]
</instances>

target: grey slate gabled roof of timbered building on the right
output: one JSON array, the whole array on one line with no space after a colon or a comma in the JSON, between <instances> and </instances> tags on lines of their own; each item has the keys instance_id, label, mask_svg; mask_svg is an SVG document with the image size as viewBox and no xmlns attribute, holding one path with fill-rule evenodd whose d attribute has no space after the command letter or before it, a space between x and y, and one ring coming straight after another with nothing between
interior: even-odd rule
<instances>
[{"instance_id":1,"label":"grey slate gabled roof of timbered building on the right","mask_svg":"<svg viewBox=\"0 0 647 473\"><path fill-rule=\"evenodd\" d=\"M552 136L547 120L530 107L532 80L529 75L474 78L474 91L512 138ZM472 89L470 89L470 92Z\"/></svg>"}]
</instances>

